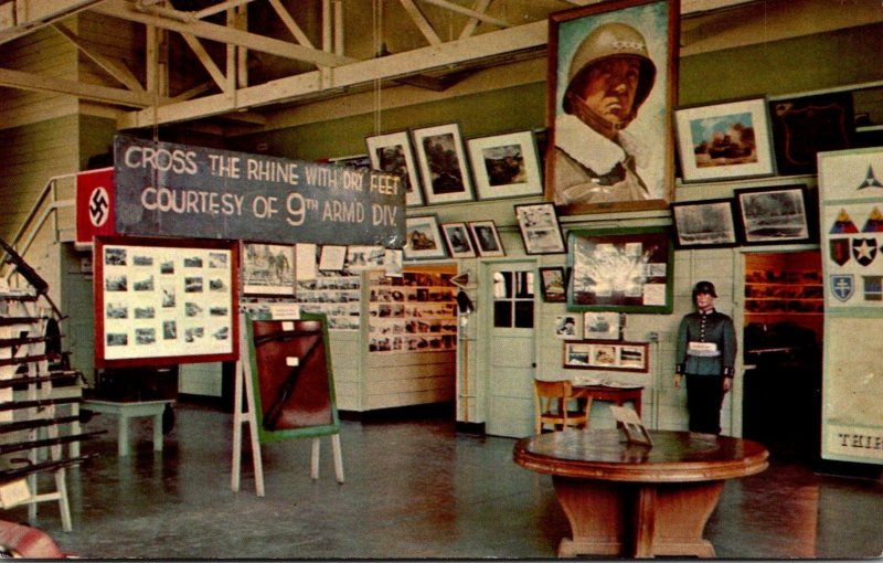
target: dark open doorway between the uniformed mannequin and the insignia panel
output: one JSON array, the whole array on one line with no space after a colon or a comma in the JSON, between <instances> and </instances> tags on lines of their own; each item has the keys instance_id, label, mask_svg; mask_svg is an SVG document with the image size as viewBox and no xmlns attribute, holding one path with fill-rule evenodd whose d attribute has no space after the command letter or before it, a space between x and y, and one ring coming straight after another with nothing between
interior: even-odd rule
<instances>
[{"instance_id":1,"label":"dark open doorway between the uniformed mannequin and the insignia panel","mask_svg":"<svg viewBox=\"0 0 883 563\"><path fill-rule=\"evenodd\" d=\"M745 254L743 436L816 459L823 291L819 251Z\"/></svg>"}]
</instances>

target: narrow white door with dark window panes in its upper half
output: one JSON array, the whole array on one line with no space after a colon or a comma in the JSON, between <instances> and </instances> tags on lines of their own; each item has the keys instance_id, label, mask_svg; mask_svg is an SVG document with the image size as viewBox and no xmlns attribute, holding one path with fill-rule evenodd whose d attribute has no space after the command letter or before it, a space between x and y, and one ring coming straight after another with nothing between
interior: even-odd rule
<instances>
[{"instance_id":1,"label":"narrow white door with dark window panes in its upper half","mask_svg":"<svg viewBox=\"0 0 883 563\"><path fill-rule=\"evenodd\" d=\"M534 264L490 266L485 302L489 315L488 416L485 429L494 436L533 433Z\"/></svg>"}]
</instances>

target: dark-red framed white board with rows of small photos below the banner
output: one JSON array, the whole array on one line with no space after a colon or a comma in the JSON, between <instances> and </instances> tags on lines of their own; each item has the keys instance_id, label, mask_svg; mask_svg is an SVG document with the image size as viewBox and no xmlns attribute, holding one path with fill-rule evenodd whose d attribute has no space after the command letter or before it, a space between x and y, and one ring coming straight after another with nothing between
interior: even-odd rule
<instances>
[{"instance_id":1,"label":"dark-red framed white board with rows of small photos below the banner","mask_svg":"<svg viewBox=\"0 0 883 563\"><path fill-rule=\"evenodd\" d=\"M236 243L95 241L97 367L236 359Z\"/></svg>"}]
</instances>

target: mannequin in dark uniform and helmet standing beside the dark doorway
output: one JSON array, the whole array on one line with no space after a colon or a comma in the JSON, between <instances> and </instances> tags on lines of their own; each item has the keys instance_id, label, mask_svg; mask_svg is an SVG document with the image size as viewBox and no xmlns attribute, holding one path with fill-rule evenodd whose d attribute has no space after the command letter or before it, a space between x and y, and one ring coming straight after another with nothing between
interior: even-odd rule
<instances>
[{"instance_id":1,"label":"mannequin in dark uniform and helmet standing beside the dark doorway","mask_svg":"<svg viewBox=\"0 0 883 563\"><path fill-rule=\"evenodd\" d=\"M687 376L690 432L721 433L721 405L733 382L736 331L733 319L714 309L717 293L711 282L693 288L696 311L685 315L678 330L674 387Z\"/></svg>"}]
</instances>

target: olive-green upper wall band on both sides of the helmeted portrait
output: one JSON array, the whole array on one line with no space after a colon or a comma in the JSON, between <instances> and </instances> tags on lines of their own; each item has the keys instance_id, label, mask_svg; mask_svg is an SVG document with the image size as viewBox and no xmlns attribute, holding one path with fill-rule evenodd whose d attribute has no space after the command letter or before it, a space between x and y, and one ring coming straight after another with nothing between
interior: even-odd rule
<instances>
[{"instance_id":1,"label":"olive-green upper wall band on both sides of the helmeted portrait","mask_svg":"<svg viewBox=\"0 0 883 563\"><path fill-rule=\"evenodd\" d=\"M883 79L883 25L759 43L685 56L679 105L757 95L813 92ZM458 123L465 139L545 127L545 83L503 88L383 111L382 131ZM374 114L321 121L228 140L232 150L301 160L365 152Z\"/></svg>"}]
</instances>

